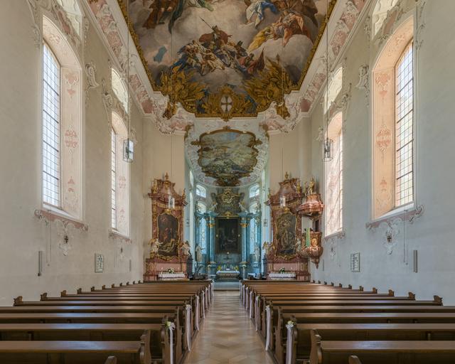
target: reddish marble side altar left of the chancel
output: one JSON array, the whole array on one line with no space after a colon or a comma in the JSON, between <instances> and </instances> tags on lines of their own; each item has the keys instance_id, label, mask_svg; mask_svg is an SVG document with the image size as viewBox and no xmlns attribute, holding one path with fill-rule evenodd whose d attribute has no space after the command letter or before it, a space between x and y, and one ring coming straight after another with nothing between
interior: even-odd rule
<instances>
[{"instance_id":1,"label":"reddish marble side altar left of the chancel","mask_svg":"<svg viewBox=\"0 0 455 364\"><path fill-rule=\"evenodd\" d=\"M151 198L151 252L145 261L144 282L159 279L188 279L186 264L190 246L183 242L185 191L176 193L175 183L155 179Z\"/></svg>"}]
</instances>

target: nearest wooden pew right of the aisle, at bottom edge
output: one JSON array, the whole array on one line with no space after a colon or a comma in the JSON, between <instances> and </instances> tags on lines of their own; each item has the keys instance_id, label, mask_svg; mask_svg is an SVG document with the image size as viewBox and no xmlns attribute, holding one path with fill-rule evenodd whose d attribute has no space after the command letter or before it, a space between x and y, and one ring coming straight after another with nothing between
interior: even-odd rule
<instances>
[{"instance_id":1,"label":"nearest wooden pew right of the aisle, at bottom edge","mask_svg":"<svg viewBox=\"0 0 455 364\"><path fill-rule=\"evenodd\" d=\"M312 333L310 364L452 364L455 341L323 341ZM355 358L350 359L351 355Z\"/></svg>"}]
</instances>

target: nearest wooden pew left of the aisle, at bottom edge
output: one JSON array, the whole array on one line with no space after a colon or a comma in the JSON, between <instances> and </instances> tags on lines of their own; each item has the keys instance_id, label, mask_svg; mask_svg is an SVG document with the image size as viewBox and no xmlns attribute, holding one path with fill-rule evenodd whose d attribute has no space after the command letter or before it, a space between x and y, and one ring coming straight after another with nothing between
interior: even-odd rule
<instances>
[{"instance_id":1,"label":"nearest wooden pew left of the aisle, at bottom edge","mask_svg":"<svg viewBox=\"0 0 455 364\"><path fill-rule=\"evenodd\" d=\"M117 364L147 364L144 350L142 341L0 341L0 363L100 364L114 355Z\"/></svg>"}]
</instances>

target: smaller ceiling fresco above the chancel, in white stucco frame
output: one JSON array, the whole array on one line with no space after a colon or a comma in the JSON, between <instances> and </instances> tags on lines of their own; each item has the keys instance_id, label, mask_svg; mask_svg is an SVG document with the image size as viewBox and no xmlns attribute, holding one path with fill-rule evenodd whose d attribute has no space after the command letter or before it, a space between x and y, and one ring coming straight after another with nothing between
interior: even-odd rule
<instances>
[{"instance_id":1,"label":"smaller ceiling fresco above the chancel, in white stucco frame","mask_svg":"<svg viewBox=\"0 0 455 364\"><path fill-rule=\"evenodd\" d=\"M238 186L240 178L250 176L257 164L256 149L262 141L251 132L220 129L200 135L193 141L198 149L198 164L218 186Z\"/></svg>"}]
</instances>

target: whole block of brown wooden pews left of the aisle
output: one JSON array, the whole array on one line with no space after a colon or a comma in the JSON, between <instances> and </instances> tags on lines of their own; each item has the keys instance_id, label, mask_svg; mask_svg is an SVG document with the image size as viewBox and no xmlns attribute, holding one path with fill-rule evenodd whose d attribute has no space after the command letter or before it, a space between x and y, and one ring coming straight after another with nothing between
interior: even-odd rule
<instances>
[{"instance_id":1,"label":"whole block of brown wooden pews left of the aisle","mask_svg":"<svg viewBox=\"0 0 455 364\"><path fill-rule=\"evenodd\" d=\"M19 296L0 307L0 363L183 363L212 300L211 281Z\"/></svg>"}]
</instances>

